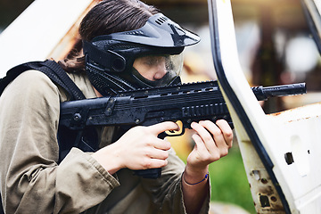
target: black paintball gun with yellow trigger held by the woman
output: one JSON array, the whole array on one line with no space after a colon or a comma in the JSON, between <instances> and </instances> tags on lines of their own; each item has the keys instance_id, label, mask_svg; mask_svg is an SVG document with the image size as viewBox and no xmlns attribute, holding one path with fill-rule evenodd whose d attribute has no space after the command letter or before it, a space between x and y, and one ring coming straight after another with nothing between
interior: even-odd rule
<instances>
[{"instance_id":1,"label":"black paintball gun with yellow trigger held by the woman","mask_svg":"<svg viewBox=\"0 0 321 214\"><path fill-rule=\"evenodd\" d=\"M268 97L306 93L305 83L284 86L251 87L259 101ZM180 136L193 121L226 119L233 122L221 94L218 81L163 86L118 95L61 103L60 126L82 130L92 126L150 126L163 121L181 121L180 133L162 133L159 137ZM161 169L138 170L142 177L160 177Z\"/></svg>"}]
</instances>

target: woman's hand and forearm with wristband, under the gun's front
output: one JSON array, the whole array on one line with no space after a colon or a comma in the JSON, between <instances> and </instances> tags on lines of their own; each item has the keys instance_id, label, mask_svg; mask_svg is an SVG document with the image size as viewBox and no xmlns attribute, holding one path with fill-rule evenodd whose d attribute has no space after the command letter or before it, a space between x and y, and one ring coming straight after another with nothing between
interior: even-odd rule
<instances>
[{"instance_id":1,"label":"woman's hand and forearm with wristband, under the gun's front","mask_svg":"<svg viewBox=\"0 0 321 214\"><path fill-rule=\"evenodd\" d=\"M205 175L209 164L226 156L232 146L233 132L224 119L215 123L210 120L193 122L195 131L193 151L187 157L183 174L183 197L187 213L199 213L209 193L209 182Z\"/></svg>"}]
</instances>

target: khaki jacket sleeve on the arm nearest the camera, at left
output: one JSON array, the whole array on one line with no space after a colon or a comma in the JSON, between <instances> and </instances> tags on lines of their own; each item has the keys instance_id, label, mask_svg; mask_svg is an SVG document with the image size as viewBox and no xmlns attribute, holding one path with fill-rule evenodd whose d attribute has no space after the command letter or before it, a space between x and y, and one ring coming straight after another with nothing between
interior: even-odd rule
<instances>
[{"instance_id":1,"label":"khaki jacket sleeve on the arm nearest the camera, at left","mask_svg":"<svg viewBox=\"0 0 321 214\"><path fill-rule=\"evenodd\" d=\"M1 194L6 213L79 213L118 181L73 149L57 165L60 92L45 74L22 73L0 97Z\"/></svg>"}]
</instances>

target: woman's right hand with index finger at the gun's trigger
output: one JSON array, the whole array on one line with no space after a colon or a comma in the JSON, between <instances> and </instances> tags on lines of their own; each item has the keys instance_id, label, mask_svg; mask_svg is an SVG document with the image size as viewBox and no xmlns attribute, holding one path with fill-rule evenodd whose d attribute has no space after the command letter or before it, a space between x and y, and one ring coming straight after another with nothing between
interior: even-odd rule
<instances>
[{"instance_id":1,"label":"woman's right hand with index finger at the gun's trigger","mask_svg":"<svg viewBox=\"0 0 321 214\"><path fill-rule=\"evenodd\" d=\"M135 127L128 130L114 144L92 154L110 174L119 169L156 169L168 164L168 141L158 138L164 131L179 130L174 122L162 122L150 127Z\"/></svg>"}]
</instances>

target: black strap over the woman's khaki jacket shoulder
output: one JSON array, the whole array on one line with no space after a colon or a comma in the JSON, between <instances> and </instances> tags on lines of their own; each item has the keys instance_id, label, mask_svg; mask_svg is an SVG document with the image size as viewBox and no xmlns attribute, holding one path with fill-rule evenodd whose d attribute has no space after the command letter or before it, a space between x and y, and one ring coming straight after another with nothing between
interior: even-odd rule
<instances>
[{"instance_id":1,"label":"black strap over the woman's khaki jacket shoulder","mask_svg":"<svg viewBox=\"0 0 321 214\"><path fill-rule=\"evenodd\" d=\"M0 79L0 95L2 95L4 88L8 86L14 78L17 78L26 70L39 70L45 73L55 84L62 86L62 88L68 92L71 100L82 100L86 98L66 71L63 70L57 62L51 60L46 60L45 62L27 62L8 70L6 76Z\"/></svg>"}]
</instances>

